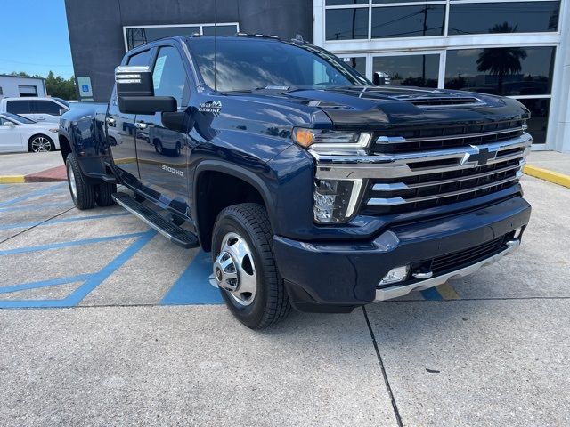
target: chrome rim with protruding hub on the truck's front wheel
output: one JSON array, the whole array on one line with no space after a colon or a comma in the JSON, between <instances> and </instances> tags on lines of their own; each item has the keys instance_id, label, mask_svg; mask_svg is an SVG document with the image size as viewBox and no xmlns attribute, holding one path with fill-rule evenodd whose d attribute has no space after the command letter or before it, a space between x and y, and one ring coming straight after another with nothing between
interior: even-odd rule
<instances>
[{"instance_id":1,"label":"chrome rim with protruding hub on the truck's front wheel","mask_svg":"<svg viewBox=\"0 0 570 427\"><path fill-rule=\"evenodd\" d=\"M214 262L217 286L240 305L251 304L256 297L257 276L253 254L244 238L228 233L222 240L220 254Z\"/></svg>"}]
</instances>

